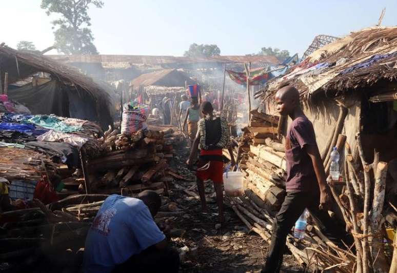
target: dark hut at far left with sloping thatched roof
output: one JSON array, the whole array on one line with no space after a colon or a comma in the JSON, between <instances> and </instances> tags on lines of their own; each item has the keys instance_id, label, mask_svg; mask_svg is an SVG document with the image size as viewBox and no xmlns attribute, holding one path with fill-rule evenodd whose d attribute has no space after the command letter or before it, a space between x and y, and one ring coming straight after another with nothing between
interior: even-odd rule
<instances>
[{"instance_id":1,"label":"dark hut at far left with sloping thatched roof","mask_svg":"<svg viewBox=\"0 0 397 273\"><path fill-rule=\"evenodd\" d=\"M42 85L33 81L10 89L10 99L26 104L34 114L54 113L98 121L104 128L112 124L109 95L90 77L39 52L0 46L0 86L4 86L5 73L12 85L39 72L48 73L50 81Z\"/></svg>"}]
</instances>

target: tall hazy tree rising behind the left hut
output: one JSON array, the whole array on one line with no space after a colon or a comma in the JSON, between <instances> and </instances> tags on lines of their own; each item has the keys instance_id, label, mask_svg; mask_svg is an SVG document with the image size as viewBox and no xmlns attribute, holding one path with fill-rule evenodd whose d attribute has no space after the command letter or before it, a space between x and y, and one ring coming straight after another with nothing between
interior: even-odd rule
<instances>
[{"instance_id":1,"label":"tall hazy tree rising behind the left hut","mask_svg":"<svg viewBox=\"0 0 397 273\"><path fill-rule=\"evenodd\" d=\"M88 15L90 5L102 8L102 0L42 0L41 8L47 15L58 13L60 18L52 21L55 46L58 52L65 54L98 54L93 44L91 18Z\"/></svg>"}]
</instances>

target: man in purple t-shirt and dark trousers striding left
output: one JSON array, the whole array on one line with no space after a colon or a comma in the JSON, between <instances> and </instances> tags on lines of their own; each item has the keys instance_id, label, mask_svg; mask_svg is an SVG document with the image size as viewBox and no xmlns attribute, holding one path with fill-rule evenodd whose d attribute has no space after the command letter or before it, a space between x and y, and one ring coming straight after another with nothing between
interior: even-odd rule
<instances>
[{"instance_id":1,"label":"man in purple t-shirt and dark trousers striding left","mask_svg":"<svg viewBox=\"0 0 397 273\"><path fill-rule=\"evenodd\" d=\"M335 226L327 212L330 195L324 166L313 125L301 109L299 92L286 86L277 91L275 100L277 110L281 115L289 115L292 123L285 143L287 194L273 223L271 244L262 269L266 273L280 271L288 232L305 208L329 239L338 243L344 237L341 228Z\"/></svg>"}]
</instances>

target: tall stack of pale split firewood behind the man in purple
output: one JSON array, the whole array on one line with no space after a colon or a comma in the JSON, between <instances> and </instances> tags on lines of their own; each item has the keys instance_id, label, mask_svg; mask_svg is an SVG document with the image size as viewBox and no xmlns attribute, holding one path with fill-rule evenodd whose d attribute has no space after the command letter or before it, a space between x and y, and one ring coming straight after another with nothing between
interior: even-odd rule
<instances>
[{"instance_id":1,"label":"tall stack of pale split firewood behind the man in purple","mask_svg":"<svg viewBox=\"0 0 397 273\"><path fill-rule=\"evenodd\" d=\"M245 173L245 187L266 204L270 214L280 208L285 193L285 148L277 142L281 121L278 116L251 111L236 152L236 162Z\"/></svg>"}]
</instances>

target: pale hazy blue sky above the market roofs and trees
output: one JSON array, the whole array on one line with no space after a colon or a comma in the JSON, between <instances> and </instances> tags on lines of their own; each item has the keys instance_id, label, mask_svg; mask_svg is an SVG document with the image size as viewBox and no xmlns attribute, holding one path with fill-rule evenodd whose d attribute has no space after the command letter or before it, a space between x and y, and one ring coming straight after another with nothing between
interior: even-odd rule
<instances>
[{"instance_id":1,"label":"pale hazy blue sky above the market roofs and trees","mask_svg":"<svg viewBox=\"0 0 397 273\"><path fill-rule=\"evenodd\" d=\"M256 53L262 47L300 55L315 35L343 36L378 23L397 25L397 0L235 1L104 0L91 6L94 44L101 54L181 56L192 43L216 44L222 55ZM51 19L41 0L0 0L0 43L15 47L53 44ZM56 53L52 51L51 53Z\"/></svg>"}]
</instances>

